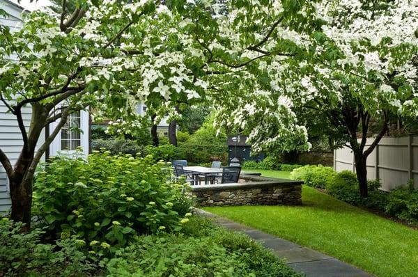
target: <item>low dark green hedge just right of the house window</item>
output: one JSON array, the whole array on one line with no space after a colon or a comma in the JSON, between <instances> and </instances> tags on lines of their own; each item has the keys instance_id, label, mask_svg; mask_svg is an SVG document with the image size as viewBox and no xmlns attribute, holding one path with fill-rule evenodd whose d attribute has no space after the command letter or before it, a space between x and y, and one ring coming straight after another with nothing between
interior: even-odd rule
<instances>
[{"instance_id":1,"label":"low dark green hedge just right of the house window","mask_svg":"<svg viewBox=\"0 0 418 277\"><path fill-rule=\"evenodd\" d=\"M135 141L125 139L94 139L91 141L91 148L93 150L105 148L110 151L111 155L123 153L135 157L137 153L144 153L144 146L138 145Z\"/></svg>"}]
</instances>

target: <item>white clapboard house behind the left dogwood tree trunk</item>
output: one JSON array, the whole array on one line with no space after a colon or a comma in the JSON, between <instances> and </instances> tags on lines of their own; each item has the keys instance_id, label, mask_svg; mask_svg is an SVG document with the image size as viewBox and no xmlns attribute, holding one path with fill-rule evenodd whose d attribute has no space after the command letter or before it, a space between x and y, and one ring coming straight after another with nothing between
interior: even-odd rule
<instances>
[{"instance_id":1,"label":"white clapboard house behind the left dogwood tree trunk","mask_svg":"<svg viewBox=\"0 0 418 277\"><path fill-rule=\"evenodd\" d=\"M9 26L11 30L18 30L22 26L22 13L26 13L21 6L8 1L0 0L0 9L8 13L8 17L0 16L0 24ZM16 57L11 56L10 59ZM31 122L31 108L22 109L22 117L24 125L29 128ZM89 116L86 111L79 111L70 116L68 124L61 129L49 147L49 151L45 153L45 157L57 155L59 152L71 153L81 146L84 154L88 154L88 134L89 134ZM52 123L49 128L46 127L41 135L38 145L45 142L45 136L52 132L56 123ZM73 130L73 127L82 129L82 133ZM22 150L22 136L17 125L17 120L13 114L8 112L7 107L0 102L0 149L6 153L12 164L15 163ZM43 160L45 161L45 157ZM8 188L8 180L3 166L0 165L0 212L10 209L10 194Z\"/></svg>"}]
</instances>

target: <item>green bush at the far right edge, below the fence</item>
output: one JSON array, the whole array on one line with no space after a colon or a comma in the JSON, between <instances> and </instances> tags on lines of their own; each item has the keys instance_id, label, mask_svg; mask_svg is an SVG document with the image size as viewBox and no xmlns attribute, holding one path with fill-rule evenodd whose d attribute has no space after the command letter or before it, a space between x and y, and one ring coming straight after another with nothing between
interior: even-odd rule
<instances>
[{"instance_id":1,"label":"green bush at the far right edge, below the fence","mask_svg":"<svg viewBox=\"0 0 418 277\"><path fill-rule=\"evenodd\" d=\"M418 191L413 184L399 187L389 193L385 211L407 221L418 221Z\"/></svg>"}]
</instances>

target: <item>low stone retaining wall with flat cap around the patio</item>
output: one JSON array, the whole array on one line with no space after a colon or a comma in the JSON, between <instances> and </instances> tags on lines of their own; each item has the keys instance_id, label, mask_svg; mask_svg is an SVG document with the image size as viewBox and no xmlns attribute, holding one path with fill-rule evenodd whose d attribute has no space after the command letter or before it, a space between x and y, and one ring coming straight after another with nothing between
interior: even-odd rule
<instances>
[{"instance_id":1,"label":"low stone retaining wall with flat cap around the patio","mask_svg":"<svg viewBox=\"0 0 418 277\"><path fill-rule=\"evenodd\" d=\"M241 175L249 182L194 186L192 194L200 206L300 205L300 181Z\"/></svg>"}]
</instances>

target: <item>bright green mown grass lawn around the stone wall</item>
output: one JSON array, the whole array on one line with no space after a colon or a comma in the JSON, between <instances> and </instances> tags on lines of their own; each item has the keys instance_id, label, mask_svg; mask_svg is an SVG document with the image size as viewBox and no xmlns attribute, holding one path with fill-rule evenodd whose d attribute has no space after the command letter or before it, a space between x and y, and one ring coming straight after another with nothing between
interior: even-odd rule
<instances>
[{"instance_id":1,"label":"bright green mown grass lawn around the stone wall","mask_svg":"<svg viewBox=\"0 0 418 277\"><path fill-rule=\"evenodd\" d=\"M259 171L261 172L261 171ZM268 177L284 173L263 171ZM208 212L364 269L376 276L418 276L418 231L304 186L302 206L207 207Z\"/></svg>"}]
</instances>

